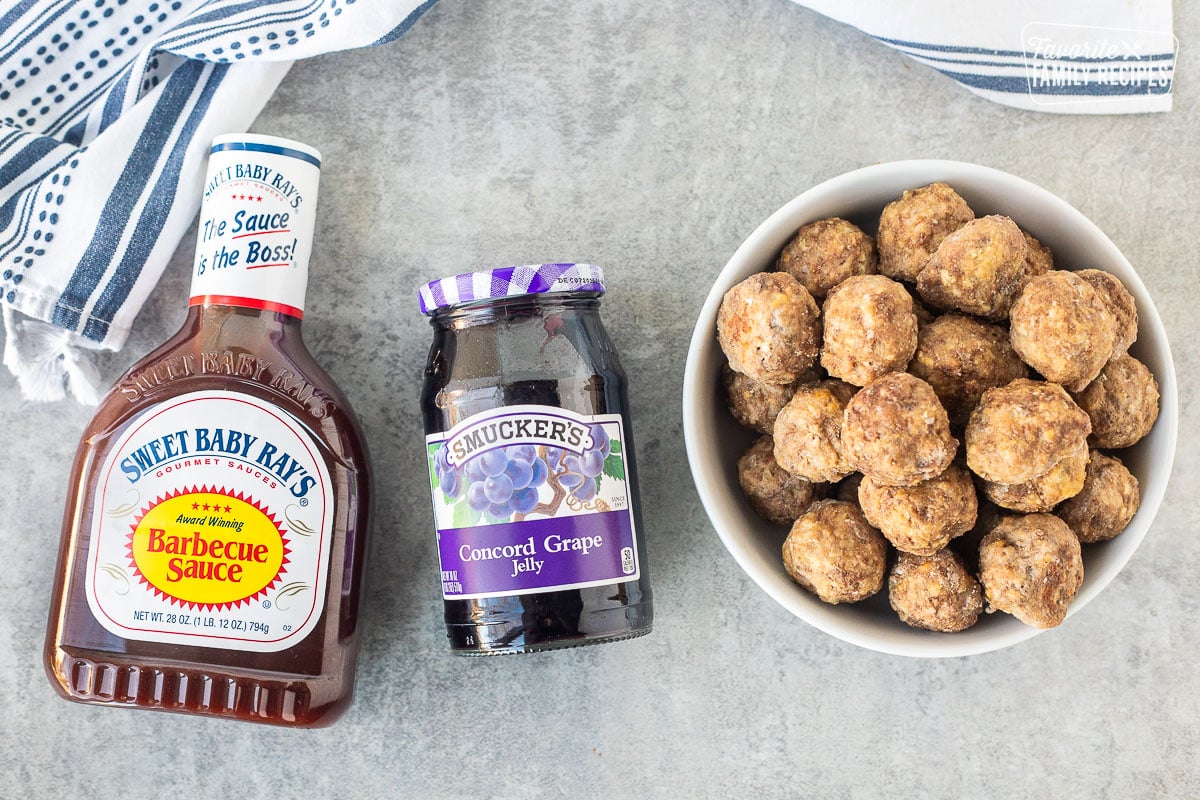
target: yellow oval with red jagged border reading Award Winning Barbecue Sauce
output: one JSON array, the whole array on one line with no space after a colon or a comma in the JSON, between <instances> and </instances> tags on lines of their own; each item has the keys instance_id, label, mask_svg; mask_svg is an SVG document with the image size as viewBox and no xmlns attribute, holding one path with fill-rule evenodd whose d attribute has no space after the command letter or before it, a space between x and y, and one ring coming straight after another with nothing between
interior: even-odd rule
<instances>
[{"instance_id":1,"label":"yellow oval with red jagged border reading Award Winning Barbecue Sauce","mask_svg":"<svg viewBox=\"0 0 1200 800\"><path fill-rule=\"evenodd\" d=\"M287 570L286 531L252 498L192 487L142 510L128 536L143 583L190 607L233 607L265 594Z\"/></svg>"}]
</instances>

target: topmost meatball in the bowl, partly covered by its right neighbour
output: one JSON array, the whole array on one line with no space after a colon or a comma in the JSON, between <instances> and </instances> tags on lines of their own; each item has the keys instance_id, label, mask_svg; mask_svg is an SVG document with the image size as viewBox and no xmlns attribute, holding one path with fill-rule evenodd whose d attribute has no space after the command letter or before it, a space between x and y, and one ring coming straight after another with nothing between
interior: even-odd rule
<instances>
[{"instance_id":1,"label":"topmost meatball in the bowl, partly covered by its right neighbour","mask_svg":"<svg viewBox=\"0 0 1200 800\"><path fill-rule=\"evenodd\" d=\"M974 219L974 211L946 184L908 190L880 215L880 272L916 281L946 236Z\"/></svg>"}]
</instances>

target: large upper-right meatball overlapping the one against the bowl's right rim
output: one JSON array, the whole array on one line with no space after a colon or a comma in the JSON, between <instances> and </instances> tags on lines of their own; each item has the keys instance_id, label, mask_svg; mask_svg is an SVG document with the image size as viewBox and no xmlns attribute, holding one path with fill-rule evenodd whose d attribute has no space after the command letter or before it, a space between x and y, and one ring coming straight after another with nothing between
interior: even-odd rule
<instances>
[{"instance_id":1,"label":"large upper-right meatball overlapping the one against the bowl's right rim","mask_svg":"<svg viewBox=\"0 0 1200 800\"><path fill-rule=\"evenodd\" d=\"M1091 283L1054 270L1025 284L1010 314L1013 349L1046 380L1079 391L1112 355L1116 319Z\"/></svg>"}]
</instances>

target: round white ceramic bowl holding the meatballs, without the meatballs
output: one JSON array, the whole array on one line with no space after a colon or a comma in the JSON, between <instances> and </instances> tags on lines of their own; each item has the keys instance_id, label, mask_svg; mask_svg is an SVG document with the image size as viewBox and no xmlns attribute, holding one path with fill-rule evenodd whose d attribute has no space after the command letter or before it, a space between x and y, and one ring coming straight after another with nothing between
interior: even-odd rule
<instances>
[{"instance_id":1,"label":"round white ceramic bowl holding the meatballs, without the meatballs","mask_svg":"<svg viewBox=\"0 0 1200 800\"><path fill-rule=\"evenodd\" d=\"M758 225L721 270L696 323L683 387L684 438L696 488L718 535L746 575L790 612L826 633L882 652L929 657L986 652L1040 631L998 612L980 615L978 624L960 633L922 631L899 620L888 606L886 588L862 603L829 606L793 583L780 555L786 529L755 515L738 486L737 459L757 434L738 426L725 408L716 311L736 283L773 269L779 251L800 225L839 216L874 234L887 203L907 188L934 181L953 186L978 216L1012 217L1054 251L1060 269L1112 272L1138 301L1138 341L1130 353L1154 373L1162 396L1154 429L1120 453L1141 483L1141 506L1120 536L1084 546L1084 584L1070 604L1064 622L1069 625L1069 616L1112 581L1151 527L1175 458L1178 398L1166 332L1146 287L1109 237L1062 199L1007 173L952 161L884 163L828 180Z\"/></svg>"}]
</instances>

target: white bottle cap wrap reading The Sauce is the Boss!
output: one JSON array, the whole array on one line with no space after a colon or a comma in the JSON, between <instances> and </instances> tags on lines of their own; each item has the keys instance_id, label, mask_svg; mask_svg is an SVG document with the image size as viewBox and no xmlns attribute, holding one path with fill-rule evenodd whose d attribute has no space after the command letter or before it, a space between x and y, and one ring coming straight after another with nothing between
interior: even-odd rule
<instances>
[{"instance_id":1,"label":"white bottle cap wrap reading The Sauce is the Boss!","mask_svg":"<svg viewBox=\"0 0 1200 800\"><path fill-rule=\"evenodd\" d=\"M319 180L320 152L300 142L254 133L214 139L190 305L304 317Z\"/></svg>"}]
</instances>

